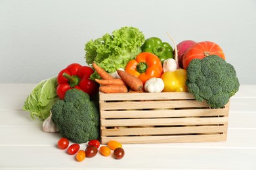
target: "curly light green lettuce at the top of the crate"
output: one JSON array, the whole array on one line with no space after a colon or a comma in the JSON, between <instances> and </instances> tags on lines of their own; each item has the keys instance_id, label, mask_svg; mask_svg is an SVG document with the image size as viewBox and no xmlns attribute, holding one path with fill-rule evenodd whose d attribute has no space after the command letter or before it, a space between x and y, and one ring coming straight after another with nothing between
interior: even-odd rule
<instances>
[{"instance_id":1,"label":"curly light green lettuce at the top of the crate","mask_svg":"<svg viewBox=\"0 0 256 170\"><path fill-rule=\"evenodd\" d=\"M138 28L121 27L113 31L112 35L106 33L102 38L87 42L85 59L89 65L95 61L108 73L114 73L117 69L125 69L127 62L142 52L144 41L144 34ZM91 78L94 80L100 77L95 72Z\"/></svg>"}]
</instances>

